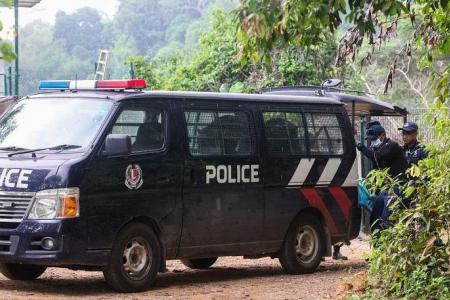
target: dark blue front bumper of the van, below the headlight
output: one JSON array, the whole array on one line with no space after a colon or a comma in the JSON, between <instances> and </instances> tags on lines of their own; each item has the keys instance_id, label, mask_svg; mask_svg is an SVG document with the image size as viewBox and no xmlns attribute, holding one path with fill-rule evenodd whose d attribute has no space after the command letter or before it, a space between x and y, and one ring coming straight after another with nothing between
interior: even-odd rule
<instances>
[{"instance_id":1,"label":"dark blue front bumper of the van, below the headlight","mask_svg":"<svg viewBox=\"0 0 450 300\"><path fill-rule=\"evenodd\" d=\"M106 265L111 251L87 250L87 239L78 223L78 219L24 220L17 228L9 229L0 224L0 263L46 266ZM41 245L42 239L47 237L55 241L52 250L45 250Z\"/></svg>"}]
</instances>

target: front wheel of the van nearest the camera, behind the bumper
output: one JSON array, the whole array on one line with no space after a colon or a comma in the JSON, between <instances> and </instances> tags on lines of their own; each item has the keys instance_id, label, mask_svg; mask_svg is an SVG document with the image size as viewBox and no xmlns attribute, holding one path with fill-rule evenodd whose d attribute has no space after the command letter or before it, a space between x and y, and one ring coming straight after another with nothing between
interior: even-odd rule
<instances>
[{"instance_id":1,"label":"front wheel of the van nearest the camera, behind the bumper","mask_svg":"<svg viewBox=\"0 0 450 300\"><path fill-rule=\"evenodd\" d=\"M103 267L103 276L117 292L146 291L156 281L161 259L160 243L153 230L133 223L117 236L110 262Z\"/></svg>"}]
</instances>

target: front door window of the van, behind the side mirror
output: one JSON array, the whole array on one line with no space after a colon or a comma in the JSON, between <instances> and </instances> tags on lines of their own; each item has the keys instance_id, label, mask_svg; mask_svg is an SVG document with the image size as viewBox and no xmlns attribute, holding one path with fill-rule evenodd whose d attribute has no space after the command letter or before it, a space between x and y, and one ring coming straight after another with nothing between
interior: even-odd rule
<instances>
[{"instance_id":1,"label":"front door window of the van, behind the side mirror","mask_svg":"<svg viewBox=\"0 0 450 300\"><path fill-rule=\"evenodd\" d=\"M165 114L152 107L125 108L114 123L112 133L128 134L132 152L160 150L165 143Z\"/></svg>"}]
</instances>

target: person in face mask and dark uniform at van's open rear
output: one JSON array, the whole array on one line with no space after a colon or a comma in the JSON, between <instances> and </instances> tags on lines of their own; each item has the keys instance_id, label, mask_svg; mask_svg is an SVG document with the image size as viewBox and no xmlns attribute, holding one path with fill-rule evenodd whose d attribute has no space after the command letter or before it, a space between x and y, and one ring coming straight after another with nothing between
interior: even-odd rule
<instances>
[{"instance_id":1,"label":"person in face mask and dark uniform at van's open rear","mask_svg":"<svg viewBox=\"0 0 450 300\"><path fill-rule=\"evenodd\" d=\"M379 123L372 124L367 130L367 139L370 141L370 147L363 143L358 143L357 148L366 157L371 159L377 169L389 169L389 175L404 179L405 171L408 168L403 148L398 143L386 136L386 130ZM375 199L375 204L370 216L371 224L374 228L381 229L378 220L385 222L389 219L389 193L381 191Z\"/></svg>"}]
</instances>

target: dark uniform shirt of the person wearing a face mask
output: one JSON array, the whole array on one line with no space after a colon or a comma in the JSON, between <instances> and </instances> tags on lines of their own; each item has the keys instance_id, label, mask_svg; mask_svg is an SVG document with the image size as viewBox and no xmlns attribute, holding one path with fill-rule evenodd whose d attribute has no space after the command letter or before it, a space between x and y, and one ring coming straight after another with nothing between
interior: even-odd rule
<instances>
[{"instance_id":1,"label":"dark uniform shirt of the person wearing a face mask","mask_svg":"<svg viewBox=\"0 0 450 300\"><path fill-rule=\"evenodd\" d=\"M403 177L408 168L403 148L391 139L386 139L377 148L360 145L359 150L373 161L377 169L389 168L392 177Z\"/></svg>"}]
</instances>

